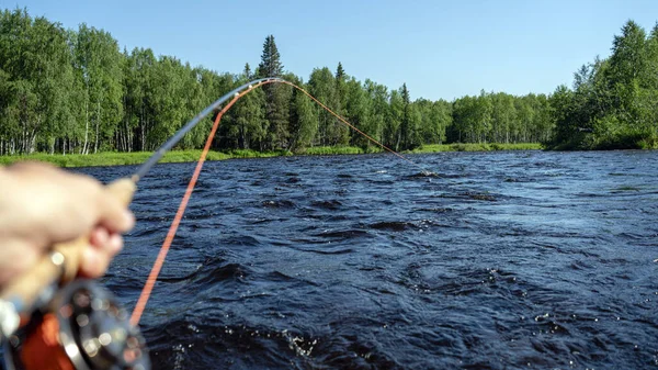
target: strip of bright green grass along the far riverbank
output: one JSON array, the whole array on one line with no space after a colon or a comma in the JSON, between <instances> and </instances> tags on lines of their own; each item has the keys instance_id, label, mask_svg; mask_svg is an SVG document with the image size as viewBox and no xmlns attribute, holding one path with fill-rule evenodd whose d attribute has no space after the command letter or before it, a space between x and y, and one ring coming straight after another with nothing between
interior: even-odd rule
<instances>
[{"instance_id":1,"label":"strip of bright green grass along the far riverbank","mask_svg":"<svg viewBox=\"0 0 658 370\"><path fill-rule=\"evenodd\" d=\"M540 150L542 146L534 143L520 144L434 144L427 145L415 150L402 152L406 154L426 154L426 153L445 153L445 152L490 152L490 150ZM171 150L168 152L160 164L194 162L201 156L198 149L191 150ZM367 154L386 153L382 150L370 150ZM23 160L38 160L53 164L58 167L99 167L99 166L131 166L141 165L150 157L152 152L134 153L98 153L98 154L43 154L35 153L24 156L0 156L0 165L11 165ZM283 156L336 156L336 155L359 155L366 154L360 147L340 146L340 147L311 147L304 152L293 154L288 150L277 152L256 152L256 150L211 150L206 161L240 159L240 158L270 158Z\"/></svg>"}]
</instances>

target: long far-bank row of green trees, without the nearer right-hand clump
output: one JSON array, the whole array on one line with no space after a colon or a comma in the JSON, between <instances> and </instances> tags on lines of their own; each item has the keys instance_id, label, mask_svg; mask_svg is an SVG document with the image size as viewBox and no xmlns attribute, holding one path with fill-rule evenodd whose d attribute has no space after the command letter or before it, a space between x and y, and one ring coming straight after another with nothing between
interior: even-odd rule
<instances>
[{"instance_id":1,"label":"long far-bank row of green trees, without the nearer right-hand clump","mask_svg":"<svg viewBox=\"0 0 658 370\"><path fill-rule=\"evenodd\" d=\"M299 86L396 152L440 143L540 143L553 130L546 94L481 90L452 101L412 99L406 83L390 88L360 80L341 63L302 77L285 70L273 35L265 37L258 66L246 63L236 74L150 48L122 49L107 31L84 23L67 30L26 9L1 11L0 25L0 155L152 152L218 97L265 77ZM214 115L177 149L203 148ZM318 147L372 145L305 94L272 83L224 114L211 148L310 154Z\"/></svg>"}]
</instances>

